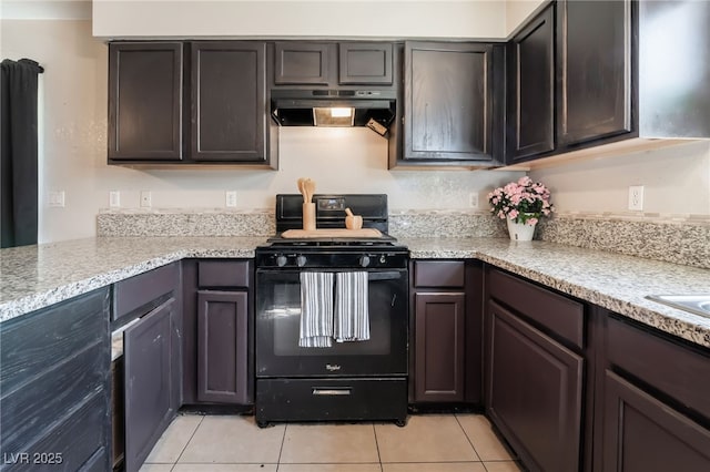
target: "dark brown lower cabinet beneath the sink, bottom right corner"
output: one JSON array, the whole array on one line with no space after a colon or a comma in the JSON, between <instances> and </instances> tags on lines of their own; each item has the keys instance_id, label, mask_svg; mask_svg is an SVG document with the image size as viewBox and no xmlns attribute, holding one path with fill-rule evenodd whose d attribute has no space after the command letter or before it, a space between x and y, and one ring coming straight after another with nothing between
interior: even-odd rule
<instances>
[{"instance_id":1,"label":"dark brown lower cabinet beneath the sink, bottom right corner","mask_svg":"<svg viewBox=\"0 0 710 472\"><path fill-rule=\"evenodd\" d=\"M607 312L596 471L710 470L710 351Z\"/></svg>"}]
</instances>

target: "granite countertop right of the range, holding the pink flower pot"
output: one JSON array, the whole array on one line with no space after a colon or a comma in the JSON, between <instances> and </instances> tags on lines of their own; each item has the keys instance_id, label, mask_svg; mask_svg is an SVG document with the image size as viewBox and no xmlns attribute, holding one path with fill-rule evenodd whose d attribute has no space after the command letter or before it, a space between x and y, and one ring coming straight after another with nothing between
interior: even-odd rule
<instances>
[{"instance_id":1,"label":"granite countertop right of the range, holding the pink flower pot","mask_svg":"<svg viewBox=\"0 0 710 472\"><path fill-rule=\"evenodd\" d=\"M476 258L698 345L710 318L647 295L710 295L710 270L595 249L501 238L399 238L413 258Z\"/></svg>"}]
</instances>

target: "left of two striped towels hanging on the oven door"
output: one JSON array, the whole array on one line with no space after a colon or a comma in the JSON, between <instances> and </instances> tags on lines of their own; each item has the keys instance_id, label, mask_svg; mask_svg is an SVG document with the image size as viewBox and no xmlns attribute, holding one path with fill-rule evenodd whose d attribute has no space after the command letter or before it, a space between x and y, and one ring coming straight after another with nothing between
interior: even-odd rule
<instances>
[{"instance_id":1,"label":"left of two striped towels hanging on the oven door","mask_svg":"<svg viewBox=\"0 0 710 472\"><path fill-rule=\"evenodd\" d=\"M333 273L301 273L302 348L329 348L333 345Z\"/></svg>"}]
</instances>

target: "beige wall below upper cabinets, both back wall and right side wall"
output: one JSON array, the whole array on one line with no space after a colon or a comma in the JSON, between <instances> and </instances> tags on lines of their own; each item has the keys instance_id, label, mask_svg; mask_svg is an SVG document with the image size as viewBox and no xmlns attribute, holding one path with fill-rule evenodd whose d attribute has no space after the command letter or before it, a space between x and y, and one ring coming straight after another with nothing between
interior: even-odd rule
<instances>
[{"instance_id":1,"label":"beige wall below upper cabinets, both back wall and right side wall","mask_svg":"<svg viewBox=\"0 0 710 472\"><path fill-rule=\"evenodd\" d=\"M516 178L509 172L389 172L382 137L366 129L284 129L281 171L138 171L108 166L106 47L92 38L90 21L3 20L0 55L39 61L42 75L40 240L95 234L95 215L111 189L122 206L139 207L153 192L153 207L224 207L234 189L239 208L267 208L276 193L296 192L310 176L318 192L379 192L393 209L468 209ZM532 173L554 192L560 211L625 212L628 185L646 186L646 209L710 216L710 148L707 142L608 157ZM47 206L47 192L63 189L65 207Z\"/></svg>"}]
</instances>

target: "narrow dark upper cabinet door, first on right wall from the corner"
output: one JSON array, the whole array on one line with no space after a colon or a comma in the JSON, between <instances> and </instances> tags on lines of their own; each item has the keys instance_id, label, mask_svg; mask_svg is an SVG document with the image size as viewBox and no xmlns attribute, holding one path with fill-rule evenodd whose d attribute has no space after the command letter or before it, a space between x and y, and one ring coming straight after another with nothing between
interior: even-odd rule
<instances>
[{"instance_id":1,"label":"narrow dark upper cabinet door, first on right wall from the corner","mask_svg":"<svg viewBox=\"0 0 710 472\"><path fill-rule=\"evenodd\" d=\"M554 13L548 7L509 44L507 137L514 162L555 148Z\"/></svg>"}]
</instances>

